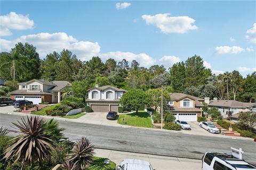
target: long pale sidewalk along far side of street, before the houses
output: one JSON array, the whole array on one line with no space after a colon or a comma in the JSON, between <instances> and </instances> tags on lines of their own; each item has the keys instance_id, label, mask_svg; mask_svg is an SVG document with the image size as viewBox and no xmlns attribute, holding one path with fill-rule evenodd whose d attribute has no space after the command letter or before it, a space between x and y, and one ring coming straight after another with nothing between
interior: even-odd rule
<instances>
[{"instance_id":1,"label":"long pale sidewalk along far side of street, before the houses","mask_svg":"<svg viewBox=\"0 0 256 170\"><path fill-rule=\"evenodd\" d=\"M2 109L1 109L1 112ZM13 115L20 115L20 116L33 116L31 114L25 114L25 113L20 113L20 112L12 112L12 113L3 113L3 114L13 114ZM86 113L90 114L90 113ZM63 117L55 117L55 116L47 116L47 115L40 115L41 117L45 119L51 119L54 118L55 120L59 121L66 121L66 122L76 122L76 123L87 123L87 124L97 124L97 125L103 125L103 126L115 126L119 128L130 128L130 129L141 129L141 130L149 130L149 131L159 131L159 132L165 132L165 133L178 133L178 134L187 134L187 135L201 135L204 137L217 137L217 138L229 138L229 139L237 139L237 140L247 140L247 141L252 141L253 139L251 138L244 138L244 137L233 137L233 136L227 136L227 135L221 135L221 134L212 134L212 133L198 133L198 132L192 132L192 131L186 131L186 130L181 130L181 131L170 131L170 130L165 130L165 129L155 129L155 128L142 128L142 127L135 127L135 126L129 126L129 125L121 125L116 123L116 121L88 121L86 120L86 115L79 117L79 118L63 118ZM108 122L108 123L107 123Z\"/></svg>"}]
</instances>

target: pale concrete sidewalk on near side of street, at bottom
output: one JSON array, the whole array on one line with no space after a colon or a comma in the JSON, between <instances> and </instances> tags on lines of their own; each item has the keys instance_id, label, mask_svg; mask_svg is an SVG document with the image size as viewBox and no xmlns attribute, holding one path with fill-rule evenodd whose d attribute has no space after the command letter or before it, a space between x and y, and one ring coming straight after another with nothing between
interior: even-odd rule
<instances>
[{"instance_id":1,"label":"pale concrete sidewalk on near side of street, at bottom","mask_svg":"<svg viewBox=\"0 0 256 170\"><path fill-rule=\"evenodd\" d=\"M123 159L136 158L148 161L156 170L194 170L201 169L202 162L198 159L186 159L167 156L156 156L148 154L135 154L132 152L122 152L105 149L95 149L95 156L112 160L116 165L120 165Z\"/></svg>"}]
</instances>

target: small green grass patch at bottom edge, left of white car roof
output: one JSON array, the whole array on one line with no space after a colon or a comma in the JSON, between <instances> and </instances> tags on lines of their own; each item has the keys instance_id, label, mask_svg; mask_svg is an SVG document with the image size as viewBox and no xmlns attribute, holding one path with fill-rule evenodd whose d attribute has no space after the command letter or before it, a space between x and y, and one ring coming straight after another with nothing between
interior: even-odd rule
<instances>
[{"instance_id":1,"label":"small green grass patch at bottom edge, left of white car roof","mask_svg":"<svg viewBox=\"0 0 256 170\"><path fill-rule=\"evenodd\" d=\"M104 160L106 158L94 157L93 163L87 169L89 170L115 170L116 164L110 160L109 164L105 164Z\"/></svg>"}]
</instances>

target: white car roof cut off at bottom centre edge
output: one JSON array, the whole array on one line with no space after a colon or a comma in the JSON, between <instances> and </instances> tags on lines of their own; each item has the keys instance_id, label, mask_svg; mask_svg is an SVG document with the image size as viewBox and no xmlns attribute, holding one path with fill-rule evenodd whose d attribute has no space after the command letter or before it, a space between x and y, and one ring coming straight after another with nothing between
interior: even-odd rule
<instances>
[{"instance_id":1,"label":"white car roof cut off at bottom centre edge","mask_svg":"<svg viewBox=\"0 0 256 170\"><path fill-rule=\"evenodd\" d=\"M124 159L121 165L116 166L116 170L153 170L153 167L146 160Z\"/></svg>"}]
</instances>

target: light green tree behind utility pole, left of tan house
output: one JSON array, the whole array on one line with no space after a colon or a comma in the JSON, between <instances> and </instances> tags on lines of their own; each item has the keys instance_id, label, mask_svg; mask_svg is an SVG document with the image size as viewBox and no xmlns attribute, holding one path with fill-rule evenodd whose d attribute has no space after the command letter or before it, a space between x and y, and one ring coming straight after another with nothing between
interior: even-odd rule
<instances>
[{"instance_id":1,"label":"light green tree behind utility pole, left of tan house","mask_svg":"<svg viewBox=\"0 0 256 170\"><path fill-rule=\"evenodd\" d=\"M152 100L152 105L155 107L155 111L158 106L161 106L162 104L162 91L161 88L158 89L149 89L148 94ZM170 101L170 95L169 92L166 90L163 90L163 106L166 106L166 103Z\"/></svg>"}]
</instances>

